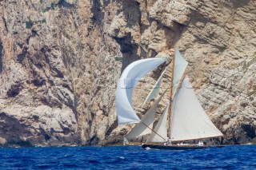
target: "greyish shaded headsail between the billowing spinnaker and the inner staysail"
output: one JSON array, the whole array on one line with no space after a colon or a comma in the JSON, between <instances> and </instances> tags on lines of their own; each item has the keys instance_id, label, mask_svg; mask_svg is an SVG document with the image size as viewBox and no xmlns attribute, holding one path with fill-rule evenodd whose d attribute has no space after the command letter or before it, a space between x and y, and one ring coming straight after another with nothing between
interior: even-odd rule
<instances>
[{"instance_id":1,"label":"greyish shaded headsail between the billowing spinnaker and the inner staysail","mask_svg":"<svg viewBox=\"0 0 256 170\"><path fill-rule=\"evenodd\" d=\"M142 117L142 121L135 125L134 128L125 136L127 140L132 140L135 137L150 134L152 132L151 129L153 128L155 113L158 109L158 104L165 93L162 93L162 95L158 97L158 100L154 102L150 109L145 113L144 117Z\"/></svg>"}]
</instances>

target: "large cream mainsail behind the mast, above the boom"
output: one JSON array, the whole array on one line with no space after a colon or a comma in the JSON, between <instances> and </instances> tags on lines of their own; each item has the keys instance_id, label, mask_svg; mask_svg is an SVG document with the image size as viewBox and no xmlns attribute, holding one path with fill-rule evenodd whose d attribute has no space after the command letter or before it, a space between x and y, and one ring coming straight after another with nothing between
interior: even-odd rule
<instances>
[{"instance_id":1,"label":"large cream mainsail behind the mast, above the boom","mask_svg":"<svg viewBox=\"0 0 256 170\"><path fill-rule=\"evenodd\" d=\"M174 97L171 113L172 141L223 136L202 109L187 76Z\"/></svg>"}]
</instances>

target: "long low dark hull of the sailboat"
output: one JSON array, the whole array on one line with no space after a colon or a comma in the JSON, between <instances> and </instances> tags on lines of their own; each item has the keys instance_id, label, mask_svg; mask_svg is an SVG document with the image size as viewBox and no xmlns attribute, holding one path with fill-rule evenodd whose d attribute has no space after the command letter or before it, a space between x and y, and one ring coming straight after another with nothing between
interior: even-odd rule
<instances>
[{"instance_id":1,"label":"long low dark hull of the sailboat","mask_svg":"<svg viewBox=\"0 0 256 170\"><path fill-rule=\"evenodd\" d=\"M142 148L156 148L156 149L166 149L166 150L188 150L188 149L202 149L208 148L209 146L166 146L166 145L157 145L157 144L142 144Z\"/></svg>"}]
</instances>

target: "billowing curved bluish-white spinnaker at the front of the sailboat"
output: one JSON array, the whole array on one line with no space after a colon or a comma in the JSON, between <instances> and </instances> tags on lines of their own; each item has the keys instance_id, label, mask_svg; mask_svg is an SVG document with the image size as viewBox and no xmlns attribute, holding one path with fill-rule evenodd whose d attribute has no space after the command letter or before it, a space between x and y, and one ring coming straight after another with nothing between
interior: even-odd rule
<instances>
[{"instance_id":1,"label":"billowing curved bluish-white spinnaker at the front of the sailboat","mask_svg":"<svg viewBox=\"0 0 256 170\"><path fill-rule=\"evenodd\" d=\"M140 122L132 105L134 87L146 73L165 61L166 59L163 58L147 58L134 61L123 71L118 81L115 99L119 125Z\"/></svg>"}]
</instances>

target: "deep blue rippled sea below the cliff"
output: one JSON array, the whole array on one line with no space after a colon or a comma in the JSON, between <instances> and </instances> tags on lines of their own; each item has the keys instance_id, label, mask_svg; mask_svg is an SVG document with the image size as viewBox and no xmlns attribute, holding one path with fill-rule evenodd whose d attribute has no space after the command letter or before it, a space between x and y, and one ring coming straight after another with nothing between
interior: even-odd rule
<instances>
[{"instance_id":1,"label":"deep blue rippled sea below the cliff","mask_svg":"<svg viewBox=\"0 0 256 170\"><path fill-rule=\"evenodd\" d=\"M256 169L256 145L168 151L138 146L0 148L0 169Z\"/></svg>"}]
</instances>

